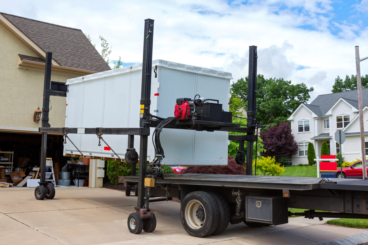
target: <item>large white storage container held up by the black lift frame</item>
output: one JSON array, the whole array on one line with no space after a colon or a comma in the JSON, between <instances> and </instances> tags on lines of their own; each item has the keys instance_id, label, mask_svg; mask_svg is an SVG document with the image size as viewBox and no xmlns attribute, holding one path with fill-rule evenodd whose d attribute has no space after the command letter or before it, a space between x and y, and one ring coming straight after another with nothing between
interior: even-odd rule
<instances>
[{"instance_id":1,"label":"large white storage container held up by the black lift frame","mask_svg":"<svg viewBox=\"0 0 368 245\"><path fill-rule=\"evenodd\" d=\"M155 74L157 77L155 78ZM174 116L177 98L201 97L219 100L229 111L231 73L164 60L152 61L151 114ZM67 80L65 127L139 127L142 64L99 72ZM152 133L149 136L147 160L155 155ZM68 137L87 156L116 158L116 155L93 134L69 134ZM107 144L124 158L128 137L103 135ZM139 152L139 136L134 148ZM163 165L227 165L228 133L164 129L161 144ZM67 140L65 154L79 154Z\"/></svg>"}]
</instances>

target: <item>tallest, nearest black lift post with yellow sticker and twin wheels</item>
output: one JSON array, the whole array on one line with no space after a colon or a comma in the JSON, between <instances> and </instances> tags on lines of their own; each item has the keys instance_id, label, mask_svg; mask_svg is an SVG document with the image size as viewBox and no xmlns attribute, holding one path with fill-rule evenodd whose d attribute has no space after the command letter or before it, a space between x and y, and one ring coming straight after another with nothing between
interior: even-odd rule
<instances>
[{"instance_id":1,"label":"tallest, nearest black lift post with yellow sticker and twin wheels","mask_svg":"<svg viewBox=\"0 0 368 245\"><path fill-rule=\"evenodd\" d=\"M143 65L142 65L142 90L141 90L141 109L139 114L139 127L149 128L146 123L149 117L151 105L151 71L152 71L152 48L153 48L153 19L145 19L144 25L144 46L143 46ZM149 195L145 188L145 177L147 175L147 147L148 136L141 135L139 146L139 177L138 177L138 203L135 207L136 212L128 217L128 228L131 233L139 234L142 230L152 232L156 228L156 218L153 210L149 209ZM137 190L136 190L137 191Z\"/></svg>"}]
</instances>

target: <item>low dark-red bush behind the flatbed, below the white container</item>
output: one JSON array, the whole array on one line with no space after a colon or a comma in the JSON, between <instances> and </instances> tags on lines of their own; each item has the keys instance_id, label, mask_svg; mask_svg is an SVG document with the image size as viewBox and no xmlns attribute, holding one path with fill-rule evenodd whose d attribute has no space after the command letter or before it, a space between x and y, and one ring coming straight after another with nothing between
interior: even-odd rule
<instances>
[{"instance_id":1,"label":"low dark-red bush behind the flatbed, below the white container","mask_svg":"<svg viewBox=\"0 0 368 245\"><path fill-rule=\"evenodd\" d=\"M189 166L181 171L181 173L245 175L245 166L237 164L232 156L228 156L226 166Z\"/></svg>"}]
</instances>

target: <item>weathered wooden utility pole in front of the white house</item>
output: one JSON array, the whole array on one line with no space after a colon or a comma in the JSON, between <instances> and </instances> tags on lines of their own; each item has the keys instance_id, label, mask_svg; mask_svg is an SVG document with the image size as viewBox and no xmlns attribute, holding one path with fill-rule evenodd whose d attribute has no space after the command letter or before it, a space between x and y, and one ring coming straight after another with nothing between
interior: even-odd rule
<instances>
[{"instance_id":1,"label":"weathered wooden utility pole in front of the white house","mask_svg":"<svg viewBox=\"0 0 368 245\"><path fill-rule=\"evenodd\" d=\"M367 179L367 166L365 164L365 139L364 139L364 121L363 121L362 84L361 84L361 76L360 76L359 46L355 46L355 62L357 64L359 125L360 125L360 143L361 143L361 152L362 152L363 179L365 180Z\"/></svg>"}]
</instances>

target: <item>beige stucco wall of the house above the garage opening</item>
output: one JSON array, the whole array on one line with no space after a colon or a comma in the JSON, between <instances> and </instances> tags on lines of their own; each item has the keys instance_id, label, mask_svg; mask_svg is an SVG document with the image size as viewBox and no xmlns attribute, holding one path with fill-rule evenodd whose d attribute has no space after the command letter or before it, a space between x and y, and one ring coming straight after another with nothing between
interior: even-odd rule
<instances>
[{"instance_id":1,"label":"beige stucco wall of the house above the garage opening","mask_svg":"<svg viewBox=\"0 0 368 245\"><path fill-rule=\"evenodd\" d=\"M0 117L0 129L10 131L38 131L40 123L33 122L33 112L42 109L44 71L18 68L18 54L38 57L3 25L0 25L0 98L1 107L7 111ZM66 82L78 75L52 72L51 80ZM64 127L66 98L51 96L49 112L52 127Z\"/></svg>"}]
</instances>

